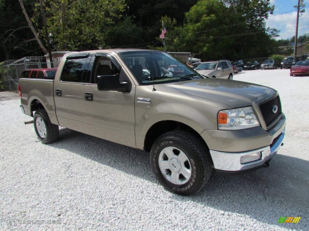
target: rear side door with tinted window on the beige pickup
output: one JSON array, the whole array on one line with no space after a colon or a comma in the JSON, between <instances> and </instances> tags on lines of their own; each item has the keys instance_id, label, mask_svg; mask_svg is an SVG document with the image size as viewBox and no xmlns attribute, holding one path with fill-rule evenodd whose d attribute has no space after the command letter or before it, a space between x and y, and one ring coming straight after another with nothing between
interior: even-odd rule
<instances>
[{"instance_id":1,"label":"rear side door with tinted window on the beige pickup","mask_svg":"<svg viewBox=\"0 0 309 231\"><path fill-rule=\"evenodd\" d=\"M56 115L60 126L84 132L87 130L84 114L84 85L90 54L67 56L61 76L54 82Z\"/></svg>"}]
</instances>

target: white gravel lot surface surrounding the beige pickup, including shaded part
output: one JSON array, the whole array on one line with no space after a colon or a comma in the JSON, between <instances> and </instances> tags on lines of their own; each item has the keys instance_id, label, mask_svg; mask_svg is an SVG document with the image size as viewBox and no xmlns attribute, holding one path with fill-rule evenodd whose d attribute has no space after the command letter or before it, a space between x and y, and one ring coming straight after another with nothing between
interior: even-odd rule
<instances>
[{"instance_id":1,"label":"white gravel lot surface surrounding the beige pickup, including shaded part","mask_svg":"<svg viewBox=\"0 0 309 231\"><path fill-rule=\"evenodd\" d=\"M148 153L66 128L42 144L20 100L0 101L0 230L309 230L309 76L254 70L234 80L279 91L284 146L269 168L215 174L188 197L159 185Z\"/></svg>"}]
</instances>

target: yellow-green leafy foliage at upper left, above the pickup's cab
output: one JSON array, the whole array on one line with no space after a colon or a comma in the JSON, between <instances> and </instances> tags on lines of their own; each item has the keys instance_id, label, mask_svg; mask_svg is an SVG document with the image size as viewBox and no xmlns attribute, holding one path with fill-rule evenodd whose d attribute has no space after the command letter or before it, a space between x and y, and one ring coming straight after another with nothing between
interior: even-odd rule
<instances>
[{"instance_id":1,"label":"yellow-green leafy foliage at upper left, above the pickup's cab","mask_svg":"<svg viewBox=\"0 0 309 231\"><path fill-rule=\"evenodd\" d=\"M105 47L108 26L121 17L124 8L124 0L45 1L47 26L56 42L54 46L61 51Z\"/></svg>"}]
</instances>

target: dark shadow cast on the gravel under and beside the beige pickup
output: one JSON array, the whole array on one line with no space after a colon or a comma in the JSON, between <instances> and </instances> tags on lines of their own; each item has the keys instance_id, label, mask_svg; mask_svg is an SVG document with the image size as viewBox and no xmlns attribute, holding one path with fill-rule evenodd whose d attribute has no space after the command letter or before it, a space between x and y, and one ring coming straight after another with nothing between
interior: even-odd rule
<instances>
[{"instance_id":1,"label":"dark shadow cast on the gravel under and beside the beige pickup","mask_svg":"<svg viewBox=\"0 0 309 231\"><path fill-rule=\"evenodd\" d=\"M59 141L49 145L159 185L146 152L67 128L60 130ZM240 222L242 217L251 217L282 228L304 229L309 214L308 162L277 154L269 168L236 176L214 174L210 185L200 193L188 197L171 193L170 198L222 210L222 216L238 213ZM302 217L298 224L278 224L280 217L296 216Z\"/></svg>"}]
</instances>

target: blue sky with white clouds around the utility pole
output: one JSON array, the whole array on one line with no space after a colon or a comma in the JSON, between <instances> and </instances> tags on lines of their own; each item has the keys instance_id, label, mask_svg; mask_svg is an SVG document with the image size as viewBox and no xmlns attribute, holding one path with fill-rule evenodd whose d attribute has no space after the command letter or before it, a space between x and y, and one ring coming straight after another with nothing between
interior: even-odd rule
<instances>
[{"instance_id":1,"label":"blue sky with white clouds around the utility pole","mask_svg":"<svg viewBox=\"0 0 309 231\"><path fill-rule=\"evenodd\" d=\"M303 0L303 3L305 13L298 19L297 37L309 34L309 0ZM298 4L298 0L270 0L270 4L275 6L275 10L266 20L266 27L280 30L280 36L276 39L290 39L295 36L297 9L294 5Z\"/></svg>"}]
</instances>

